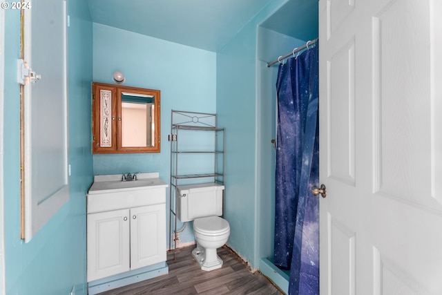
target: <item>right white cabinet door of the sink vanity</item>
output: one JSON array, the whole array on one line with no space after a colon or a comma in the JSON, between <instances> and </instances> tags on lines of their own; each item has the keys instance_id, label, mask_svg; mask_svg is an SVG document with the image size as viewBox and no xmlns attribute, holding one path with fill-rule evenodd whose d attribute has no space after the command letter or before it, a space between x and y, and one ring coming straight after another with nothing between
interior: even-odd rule
<instances>
[{"instance_id":1,"label":"right white cabinet door of the sink vanity","mask_svg":"<svg viewBox=\"0 0 442 295\"><path fill-rule=\"evenodd\" d=\"M131 269L166 261L166 204L131 209Z\"/></svg>"}]
</instances>

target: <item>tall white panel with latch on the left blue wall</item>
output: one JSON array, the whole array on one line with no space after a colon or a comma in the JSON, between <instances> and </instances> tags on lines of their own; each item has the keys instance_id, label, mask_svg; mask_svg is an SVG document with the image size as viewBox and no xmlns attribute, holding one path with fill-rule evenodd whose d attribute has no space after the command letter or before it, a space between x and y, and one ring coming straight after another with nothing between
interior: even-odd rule
<instances>
[{"instance_id":1,"label":"tall white panel with latch on the left blue wall","mask_svg":"<svg viewBox=\"0 0 442 295\"><path fill-rule=\"evenodd\" d=\"M24 10L24 60L41 75L24 86L25 240L69 199L66 1Z\"/></svg>"}]
</instances>

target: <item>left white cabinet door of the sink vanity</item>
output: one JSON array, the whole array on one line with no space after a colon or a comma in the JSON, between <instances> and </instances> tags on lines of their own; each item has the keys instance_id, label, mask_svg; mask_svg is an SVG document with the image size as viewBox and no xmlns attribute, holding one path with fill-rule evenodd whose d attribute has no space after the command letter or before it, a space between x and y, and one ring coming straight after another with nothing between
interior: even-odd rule
<instances>
[{"instance_id":1,"label":"left white cabinet door of the sink vanity","mask_svg":"<svg viewBox=\"0 0 442 295\"><path fill-rule=\"evenodd\" d=\"M88 214L88 282L130 269L130 210Z\"/></svg>"}]
</instances>

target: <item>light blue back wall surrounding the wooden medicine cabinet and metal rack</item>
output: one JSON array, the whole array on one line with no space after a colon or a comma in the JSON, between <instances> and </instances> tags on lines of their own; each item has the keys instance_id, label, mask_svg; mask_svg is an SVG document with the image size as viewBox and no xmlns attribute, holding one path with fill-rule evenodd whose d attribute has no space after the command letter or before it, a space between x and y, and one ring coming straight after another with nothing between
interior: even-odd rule
<instances>
[{"instance_id":1,"label":"light blue back wall surrounding the wooden medicine cabinet and metal rack","mask_svg":"<svg viewBox=\"0 0 442 295\"><path fill-rule=\"evenodd\" d=\"M94 155L94 174L160 172L169 183L171 110L216 112L216 54L94 23L93 80L112 84L115 70L124 73L125 86L161 91L161 153ZM191 227L180 240L193 242Z\"/></svg>"}]
</instances>

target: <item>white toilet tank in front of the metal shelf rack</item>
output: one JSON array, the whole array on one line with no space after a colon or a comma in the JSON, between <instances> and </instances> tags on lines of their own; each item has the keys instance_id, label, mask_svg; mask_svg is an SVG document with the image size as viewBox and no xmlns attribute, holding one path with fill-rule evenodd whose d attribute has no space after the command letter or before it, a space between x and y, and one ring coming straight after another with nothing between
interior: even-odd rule
<instances>
[{"instance_id":1,"label":"white toilet tank in front of the metal shelf rack","mask_svg":"<svg viewBox=\"0 0 442 295\"><path fill-rule=\"evenodd\" d=\"M224 185L215 182L177 186L176 215L182 222L206 216L222 216Z\"/></svg>"}]
</instances>

